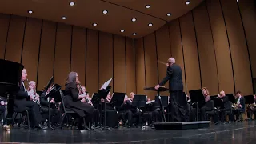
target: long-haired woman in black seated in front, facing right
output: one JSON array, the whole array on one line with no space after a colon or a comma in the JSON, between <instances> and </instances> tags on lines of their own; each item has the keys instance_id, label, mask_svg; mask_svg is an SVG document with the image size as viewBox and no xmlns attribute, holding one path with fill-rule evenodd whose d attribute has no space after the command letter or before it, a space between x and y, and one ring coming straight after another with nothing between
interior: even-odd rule
<instances>
[{"instance_id":1,"label":"long-haired woman in black seated in front, facing right","mask_svg":"<svg viewBox=\"0 0 256 144\"><path fill-rule=\"evenodd\" d=\"M86 98L86 94L79 94L78 74L70 72L66 78L65 88L65 105L67 108L74 110L80 117L78 129L89 129L88 126L82 126L82 118L86 118L86 122L90 122L93 117L94 107L86 102L81 102L82 98Z\"/></svg>"}]
</instances>

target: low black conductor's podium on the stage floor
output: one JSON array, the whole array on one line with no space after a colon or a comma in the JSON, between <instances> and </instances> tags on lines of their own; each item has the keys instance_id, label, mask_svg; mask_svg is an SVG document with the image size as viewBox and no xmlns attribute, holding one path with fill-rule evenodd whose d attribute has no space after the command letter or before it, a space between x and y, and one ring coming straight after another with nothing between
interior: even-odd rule
<instances>
[{"instance_id":1,"label":"low black conductor's podium on the stage floor","mask_svg":"<svg viewBox=\"0 0 256 144\"><path fill-rule=\"evenodd\" d=\"M187 129L202 129L208 128L210 121L197 122L155 122L155 130L187 130Z\"/></svg>"}]
</instances>

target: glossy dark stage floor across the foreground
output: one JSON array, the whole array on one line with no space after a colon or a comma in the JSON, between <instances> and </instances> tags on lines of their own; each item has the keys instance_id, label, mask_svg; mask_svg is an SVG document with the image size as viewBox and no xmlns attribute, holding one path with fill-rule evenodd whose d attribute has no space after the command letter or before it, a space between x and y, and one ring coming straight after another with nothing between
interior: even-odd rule
<instances>
[{"instance_id":1,"label":"glossy dark stage floor across the foreground","mask_svg":"<svg viewBox=\"0 0 256 144\"><path fill-rule=\"evenodd\" d=\"M24 130L0 129L0 143L254 143L256 122L211 124L209 128L191 130L154 130L122 128L107 130Z\"/></svg>"}]
</instances>

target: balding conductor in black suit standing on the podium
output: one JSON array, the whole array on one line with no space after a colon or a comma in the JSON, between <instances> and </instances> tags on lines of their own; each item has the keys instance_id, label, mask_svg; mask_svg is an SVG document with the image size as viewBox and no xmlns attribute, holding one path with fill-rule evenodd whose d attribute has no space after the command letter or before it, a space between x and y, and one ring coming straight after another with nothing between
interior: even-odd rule
<instances>
[{"instance_id":1,"label":"balding conductor in black suit standing on the podium","mask_svg":"<svg viewBox=\"0 0 256 144\"><path fill-rule=\"evenodd\" d=\"M182 69L175 63L174 58L168 59L168 67L166 70L166 78L162 80L154 88L159 89L160 86L163 86L167 81L169 81L169 92L170 92L170 106L173 122L185 121L185 105L182 103L182 91L183 91L183 82L182 82Z\"/></svg>"}]
</instances>

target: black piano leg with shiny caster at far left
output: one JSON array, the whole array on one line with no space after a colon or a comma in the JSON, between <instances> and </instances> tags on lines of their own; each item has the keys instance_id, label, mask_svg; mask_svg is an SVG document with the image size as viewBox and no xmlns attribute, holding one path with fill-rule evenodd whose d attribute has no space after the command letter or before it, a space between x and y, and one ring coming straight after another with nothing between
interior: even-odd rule
<instances>
[{"instance_id":1,"label":"black piano leg with shiny caster at far left","mask_svg":"<svg viewBox=\"0 0 256 144\"><path fill-rule=\"evenodd\" d=\"M4 130L10 131L10 126L13 123L14 114L14 97L13 95L7 94L7 115L3 122Z\"/></svg>"}]
</instances>

